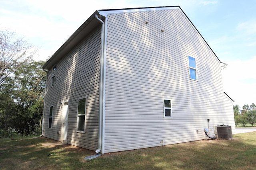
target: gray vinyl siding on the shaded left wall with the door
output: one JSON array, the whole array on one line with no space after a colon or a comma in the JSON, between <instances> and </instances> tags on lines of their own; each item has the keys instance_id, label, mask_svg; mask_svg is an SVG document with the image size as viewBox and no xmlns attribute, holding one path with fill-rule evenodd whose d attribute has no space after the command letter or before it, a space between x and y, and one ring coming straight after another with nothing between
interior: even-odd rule
<instances>
[{"instance_id":1,"label":"gray vinyl siding on the shaded left wall with the door","mask_svg":"<svg viewBox=\"0 0 256 170\"><path fill-rule=\"evenodd\" d=\"M67 143L90 150L98 147L98 110L100 82L101 29L87 35L70 53L56 63L56 85L51 86L52 70L48 71L44 137L61 141L62 107L68 101ZM86 97L85 133L77 133L78 98ZM49 106L53 105L52 129L48 129Z\"/></svg>"}]
</instances>

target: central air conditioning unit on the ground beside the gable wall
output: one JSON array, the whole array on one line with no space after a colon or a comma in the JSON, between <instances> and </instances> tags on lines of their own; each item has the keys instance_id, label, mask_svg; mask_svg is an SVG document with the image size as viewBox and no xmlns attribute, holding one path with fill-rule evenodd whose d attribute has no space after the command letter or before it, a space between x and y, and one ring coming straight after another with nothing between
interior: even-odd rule
<instances>
[{"instance_id":1,"label":"central air conditioning unit on the ground beside the gable wall","mask_svg":"<svg viewBox=\"0 0 256 170\"><path fill-rule=\"evenodd\" d=\"M233 137L232 128L229 125L217 125L213 127L217 139L230 139Z\"/></svg>"}]
</instances>

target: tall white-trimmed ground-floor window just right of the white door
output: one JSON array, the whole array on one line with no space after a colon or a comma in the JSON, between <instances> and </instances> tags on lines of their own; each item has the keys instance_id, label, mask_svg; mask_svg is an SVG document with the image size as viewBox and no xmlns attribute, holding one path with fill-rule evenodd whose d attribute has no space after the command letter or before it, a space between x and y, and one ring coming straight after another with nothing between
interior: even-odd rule
<instances>
[{"instance_id":1,"label":"tall white-trimmed ground-floor window just right of the white door","mask_svg":"<svg viewBox=\"0 0 256 170\"><path fill-rule=\"evenodd\" d=\"M77 131L85 133L86 98L78 99Z\"/></svg>"}]
</instances>

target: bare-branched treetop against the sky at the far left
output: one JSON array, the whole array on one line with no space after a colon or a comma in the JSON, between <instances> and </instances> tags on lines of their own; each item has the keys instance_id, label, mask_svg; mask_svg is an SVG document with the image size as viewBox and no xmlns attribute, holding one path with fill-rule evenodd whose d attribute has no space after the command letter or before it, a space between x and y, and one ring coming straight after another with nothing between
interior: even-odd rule
<instances>
[{"instance_id":1,"label":"bare-branched treetop against the sky at the far left","mask_svg":"<svg viewBox=\"0 0 256 170\"><path fill-rule=\"evenodd\" d=\"M36 53L36 49L13 31L0 30L0 84Z\"/></svg>"}]
</instances>

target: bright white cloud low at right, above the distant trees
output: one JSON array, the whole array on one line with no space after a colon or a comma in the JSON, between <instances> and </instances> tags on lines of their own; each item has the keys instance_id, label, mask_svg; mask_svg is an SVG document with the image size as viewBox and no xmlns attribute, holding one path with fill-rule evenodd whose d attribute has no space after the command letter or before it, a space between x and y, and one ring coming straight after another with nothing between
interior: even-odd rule
<instances>
[{"instance_id":1,"label":"bright white cloud low at right, above the distant trees","mask_svg":"<svg viewBox=\"0 0 256 170\"><path fill-rule=\"evenodd\" d=\"M256 56L246 61L229 61L228 66L222 70L224 92L240 107L256 103L255 73Z\"/></svg>"}]
</instances>

